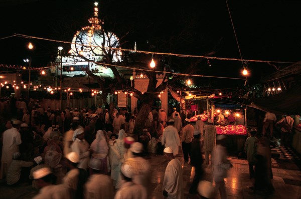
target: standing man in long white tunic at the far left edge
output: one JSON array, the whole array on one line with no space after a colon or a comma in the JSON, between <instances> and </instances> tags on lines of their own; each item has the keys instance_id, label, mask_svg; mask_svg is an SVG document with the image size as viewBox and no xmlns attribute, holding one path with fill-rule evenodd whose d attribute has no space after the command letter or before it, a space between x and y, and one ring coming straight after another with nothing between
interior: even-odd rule
<instances>
[{"instance_id":1,"label":"standing man in long white tunic at the far left edge","mask_svg":"<svg viewBox=\"0 0 301 199\"><path fill-rule=\"evenodd\" d=\"M5 178L13 161L13 154L15 152L19 152L19 145L22 143L21 135L19 133L20 121L13 121L12 126L12 128L4 131L2 136L3 147L1 156L0 179Z\"/></svg>"}]
</instances>

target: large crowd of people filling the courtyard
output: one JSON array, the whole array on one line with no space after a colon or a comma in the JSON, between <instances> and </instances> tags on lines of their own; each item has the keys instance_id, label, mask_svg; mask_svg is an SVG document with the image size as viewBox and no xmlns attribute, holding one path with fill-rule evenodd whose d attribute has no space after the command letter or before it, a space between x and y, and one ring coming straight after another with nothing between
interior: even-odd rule
<instances>
[{"instance_id":1,"label":"large crowd of people filling the courtyard","mask_svg":"<svg viewBox=\"0 0 301 199\"><path fill-rule=\"evenodd\" d=\"M168 117L164 109L153 107L135 139L130 135L136 109L130 115L127 109L117 110L111 104L82 110L52 110L34 99L15 104L17 119L6 118L1 136L0 178L9 185L32 184L40 189L35 198L151 198L150 154L163 154L168 161L163 196L184 198L179 150L184 166L190 160L195 167L190 193L198 193L205 165L212 167L221 198L227 197L224 178L232 164L227 159L226 136L216 134L214 119L204 123L198 117L192 125L176 108ZM233 122L231 117L229 122ZM268 138L255 134L252 129L245 143L252 188L270 192Z\"/></svg>"}]
</instances>

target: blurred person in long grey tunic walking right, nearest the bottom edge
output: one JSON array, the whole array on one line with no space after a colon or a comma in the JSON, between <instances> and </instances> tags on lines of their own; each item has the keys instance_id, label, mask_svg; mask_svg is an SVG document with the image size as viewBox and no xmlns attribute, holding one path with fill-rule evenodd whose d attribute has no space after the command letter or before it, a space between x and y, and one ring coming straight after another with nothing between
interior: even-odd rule
<instances>
[{"instance_id":1,"label":"blurred person in long grey tunic walking right, nearest the bottom edge","mask_svg":"<svg viewBox=\"0 0 301 199\"><path fill-rule=\"evenodd\" d=\"M218 135L216 137L216 146L213 151L213 180L215 182L215 187L220 192L221 199L227 198L224 178L227 177L227 170L233 167L227 160L227 148L225 147L226 138L225 135Z\"/></svg>"}]
</instances>

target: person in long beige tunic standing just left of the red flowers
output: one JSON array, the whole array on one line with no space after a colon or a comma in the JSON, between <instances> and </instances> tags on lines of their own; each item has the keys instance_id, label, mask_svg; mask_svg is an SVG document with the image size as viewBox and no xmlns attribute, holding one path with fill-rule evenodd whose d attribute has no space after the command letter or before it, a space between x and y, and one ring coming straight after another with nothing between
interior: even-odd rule
<instances>
[{"instance_id":1,"label":"person in long beige tunic standing just left of the red flowers","mask_svg":"<svg viewBox=\"0 0 301 199\"><path fill-rule=\"evenodd\" d=\"M215 146L216 127L213 125L213 120L208 119L208 125L204 128L204 150L205 150L205 162L209 164L209 153L212 158L212 151ZM212 160L211 160L212 161Z\"/></svg>"}]
</instances>

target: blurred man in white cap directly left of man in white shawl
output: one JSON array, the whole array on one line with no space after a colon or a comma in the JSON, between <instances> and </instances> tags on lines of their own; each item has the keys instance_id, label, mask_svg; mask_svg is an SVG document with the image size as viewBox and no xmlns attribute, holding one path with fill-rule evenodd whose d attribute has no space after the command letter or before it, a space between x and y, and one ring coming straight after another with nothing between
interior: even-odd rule
<instances>
[{"instance_id":1,"label":"blurred man in white cap directly left of man in white shawl","mask_svg":"<svg viewBox=\"0 0 301 199\"><path fill-rule=\"evenodd\" d=\"M142 158L143 145L140 142L134 142L130 145L129 150L132 152L132 158L128 158L125 162L130 164L132 172L132 180L136 184L141 184L147 191L147 198L151 198L152 190L150 187L150 163Z\"/></svg>"}]
</instances>

